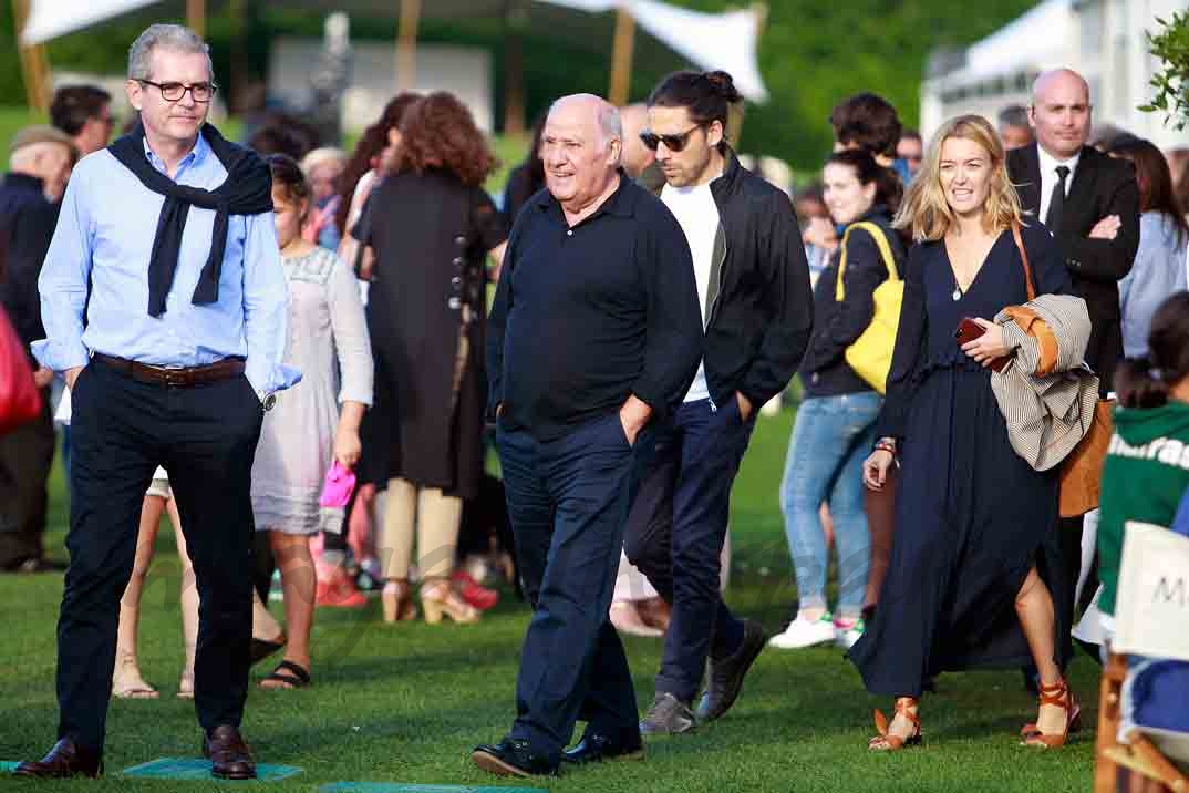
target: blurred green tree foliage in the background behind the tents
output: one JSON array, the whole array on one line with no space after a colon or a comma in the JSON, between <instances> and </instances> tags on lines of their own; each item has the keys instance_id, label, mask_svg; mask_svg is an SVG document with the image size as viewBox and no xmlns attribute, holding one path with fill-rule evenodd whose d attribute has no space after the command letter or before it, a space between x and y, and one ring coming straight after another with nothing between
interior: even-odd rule
<instances>
[{"instance_id":1,"label":"blurred green tree foliage in the background behind the tents","mask_svg":"<svg viewBox=\"0 0 1189 793\"><path fill-rule=\"evenodd\" d=\"M669 0L699 11L723 11L740 0ZM830 149L826 124L830 108L841 99L872 90L900 111L907 126L918 122L919 89L930 50L961 46L995 31L1033 5L1033 0L954 2L954 0L768 0L767 24L760 46L760 67L770 93L766 105L748 108L743 149L775 155L799 169L816 169ZM0 4L0 103L21 103L10 4ZM220 83L232 95L237 82L260 75L268 63L268 43L277 34L321 34L321 15L285 10L283 2L245 2L246 30L234 44L227 4L210 4L208 38ZM139 30L159 19L152 10L63 37L50 44L57 68L120 74L127 46ZM395 20L352 20L357 39L392 42ZM548 30L524 31L524 82L529 120L560 94L606 90L608 54L592 52L589 43L559 40ZM489 49L495 64L496 117L502 118L505 48L503 29L495 19L423 20L426 42ZM233 52L243 67L232 69ZM673 65L650 57L637 46L631 96L642 100ZM7 68L5 68L7 67Z\"/></svg>"}]
</instances>

